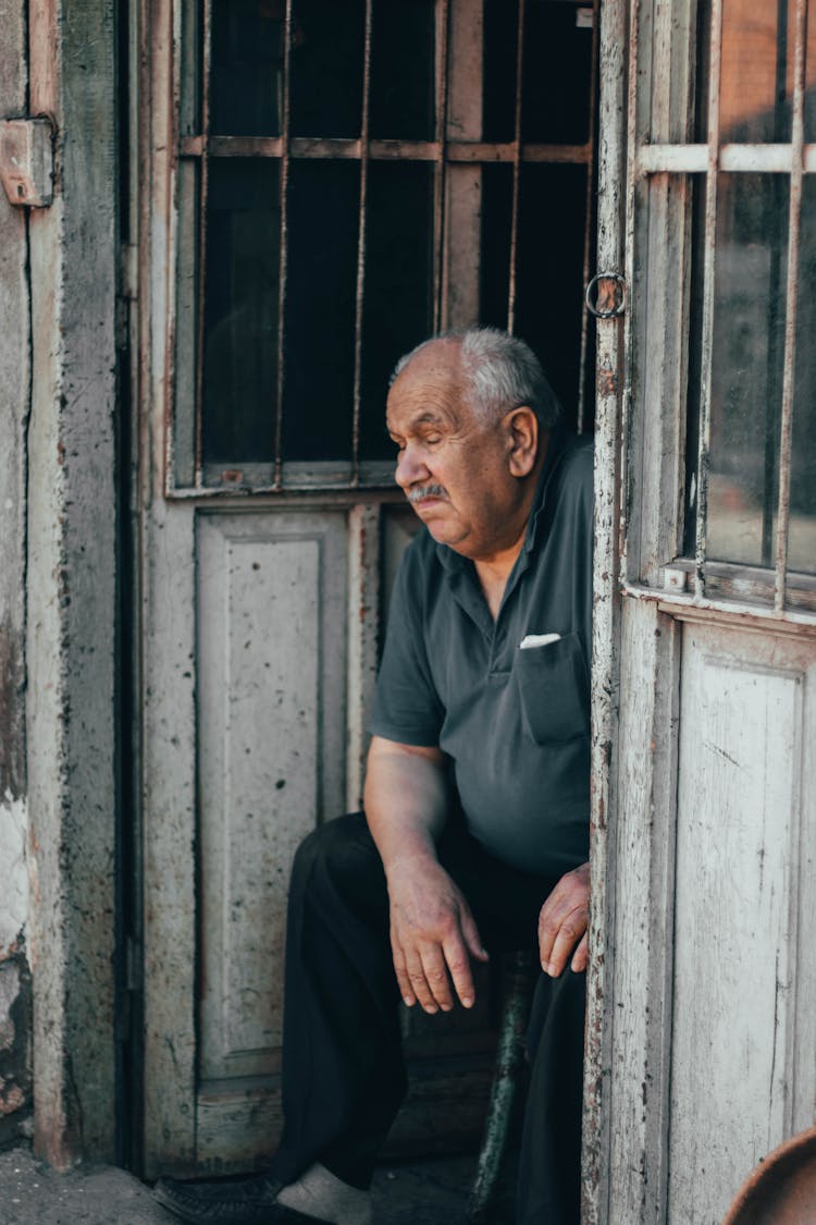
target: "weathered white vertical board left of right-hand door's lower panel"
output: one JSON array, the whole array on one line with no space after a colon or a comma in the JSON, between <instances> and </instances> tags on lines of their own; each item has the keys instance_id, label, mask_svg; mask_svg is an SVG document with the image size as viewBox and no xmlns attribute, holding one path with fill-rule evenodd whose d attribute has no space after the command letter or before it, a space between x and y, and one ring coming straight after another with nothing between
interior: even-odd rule
<instances>
[{"instance_id":1,"label":"weathered white vertical board left of right-hand door's lower panel","mask_svg":"<svg viewBox=\"0 0 816 1225\"><path fill-rule=\"evenodd\" d=\"M651 611L647 611L651 609ZM614 774L614 980L608 1215L664 1219L679 632L626 601Z\"/></svg>"}]
</instances>

